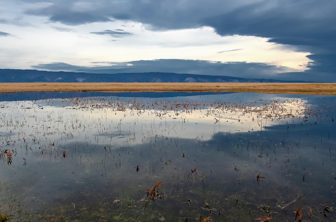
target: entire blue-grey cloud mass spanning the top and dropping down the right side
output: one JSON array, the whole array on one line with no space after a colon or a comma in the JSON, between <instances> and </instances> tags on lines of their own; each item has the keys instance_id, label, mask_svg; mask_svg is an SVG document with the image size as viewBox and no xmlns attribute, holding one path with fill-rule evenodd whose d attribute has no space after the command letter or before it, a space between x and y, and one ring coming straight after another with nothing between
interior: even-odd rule
<instances>
[{"instance_id":1,"label":"entire blue-grey cloud mass spanning the top and dropping down the right side","mask_svg":"<svg viewBox=\"0 0 336 222\"><path fill-rule=\"evenodd\" d=\"M32 0L30 2L33 2ZM336 2L330 0L229 1L146 0L79 1L54 0L29 14L48 16L67 25L111 21L138 21L148 29L167 30L213 27L219 35L270 38L270 42L295 45L310 52L310 70L302 78L336 79ZM158 70L159 71L159 70Z\"/></svg>"}]
</instances>

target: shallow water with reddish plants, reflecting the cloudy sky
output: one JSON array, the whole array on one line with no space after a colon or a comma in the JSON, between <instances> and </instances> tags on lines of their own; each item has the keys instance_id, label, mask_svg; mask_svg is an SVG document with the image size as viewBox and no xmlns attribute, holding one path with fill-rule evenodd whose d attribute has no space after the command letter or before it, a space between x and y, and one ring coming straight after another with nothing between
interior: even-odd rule
<instances>
[{"instance_id":1,"label":"shallow water with reddish plants, reflecting the cloudy sky","mask_svg":"<svg viewBox=\"0 0 336 222\"><path fill-rule=\"evenodd\" d=\"M1 94L1 214L334 221L335 98Z\"/></svg>"}]
</instances>

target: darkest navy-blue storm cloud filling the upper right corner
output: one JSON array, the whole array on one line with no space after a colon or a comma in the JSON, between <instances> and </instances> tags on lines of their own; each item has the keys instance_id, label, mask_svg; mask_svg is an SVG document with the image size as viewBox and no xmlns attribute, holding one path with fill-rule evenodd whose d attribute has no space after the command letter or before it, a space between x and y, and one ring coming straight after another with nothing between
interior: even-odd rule
<instances>
[{"instance_id":1,"label":"darkest navy-blue storm cloud filling the upper right corner","mask_svg":"<svg viewBox=\"0 0 336 222\"><path fill-rule=\"evenodd\" d=\"M292 73L302 79L335 82L336 79L336 2L286 0L271 7L259 2L232 12L209 17L204 24L219 35L247 35L270 38L269 42L294 45L310 52L310 70ZM281 5L280 5L281 4ZM291 74L283 74L291 77Z\"/></svg>"}]
</instances>

